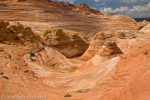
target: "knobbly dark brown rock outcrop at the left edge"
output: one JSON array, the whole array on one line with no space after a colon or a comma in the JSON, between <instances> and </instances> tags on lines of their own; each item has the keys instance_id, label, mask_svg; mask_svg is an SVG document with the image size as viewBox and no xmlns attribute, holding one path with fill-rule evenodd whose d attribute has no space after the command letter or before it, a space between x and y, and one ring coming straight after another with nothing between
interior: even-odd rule
<instances>
[{"instance_id":1,"label":"knobbly dark brown rock outcrop at the left edge","mask_svg":"<svg viewBox=\"0 0 150 100\"><path fill-rule=\"evenodd\" d=\"M18 44L18 45L25 45L27 43L32 43L34 41L40 41L40 37L36 36L32 31L31 28L28 26L23 26L18 22L14 22L9 25L8 22L4 22L1 19L1 43L6 44Z\"/></svg>"}]
</instances>

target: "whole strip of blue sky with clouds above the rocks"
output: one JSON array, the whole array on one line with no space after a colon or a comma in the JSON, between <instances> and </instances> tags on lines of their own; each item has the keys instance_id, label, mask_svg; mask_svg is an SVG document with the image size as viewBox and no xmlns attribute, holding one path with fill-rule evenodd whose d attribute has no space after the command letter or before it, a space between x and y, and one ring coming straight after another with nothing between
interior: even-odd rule
<instances>
[{"instance_id":1,"label":"whole strip of blue sky with clouds above the rocks","mask_svg":"<svg viewBox=\"0 0 150 100\"><path fill-rule=\"evenodd\" d=\"M74 5L86 3L102 13L113 12L132 18L150 17L150 0L52 0L70 2Z\"/></svg>"}]
</instances>

